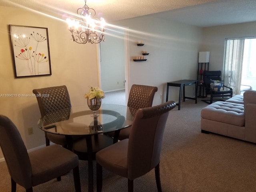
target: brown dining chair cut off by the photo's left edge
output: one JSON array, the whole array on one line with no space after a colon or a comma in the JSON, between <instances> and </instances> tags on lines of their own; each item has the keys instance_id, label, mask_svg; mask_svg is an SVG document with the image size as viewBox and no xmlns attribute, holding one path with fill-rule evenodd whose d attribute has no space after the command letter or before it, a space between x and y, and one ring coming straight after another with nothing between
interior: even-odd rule
<instances>
[{"instance_id":1,"label":"brown dining chair cut off by the photo's left edge","mask_svg":"<svg viewBox=\"0 0 256 192\"><path fill-rule=\"evenodd\" d=\"M81 192L78 156L73 152L51 145L32 152L26 146L15 124L6 116L0 115L0 146L11 177L12 192L16 184L33 192L33 186L48 182L73 170L76 192Z\"/></svg>"}]
</instances>

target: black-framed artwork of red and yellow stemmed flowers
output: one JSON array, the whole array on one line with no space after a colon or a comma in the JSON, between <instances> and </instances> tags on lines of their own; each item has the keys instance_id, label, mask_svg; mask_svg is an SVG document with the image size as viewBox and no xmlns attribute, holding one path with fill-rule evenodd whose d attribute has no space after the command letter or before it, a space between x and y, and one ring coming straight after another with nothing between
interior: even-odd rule
<instances>
[{"instance_id":1,"label":"black-framed artwork of red and yellow stemmed flowers","mask_svg":"<svg viewBox=\"0 0 256 192\"><path fill-rule=\"evenodd\" d=\"M9 25L9 30L15 77L51 75L48 29Z\"/></svg>"}]
</instances>

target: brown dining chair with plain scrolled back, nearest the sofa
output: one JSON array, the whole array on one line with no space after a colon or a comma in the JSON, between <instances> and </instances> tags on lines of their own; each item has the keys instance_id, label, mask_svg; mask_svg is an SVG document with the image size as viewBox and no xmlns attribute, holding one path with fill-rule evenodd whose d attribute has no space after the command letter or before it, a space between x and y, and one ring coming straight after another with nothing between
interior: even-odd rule
<instances>
[{"instance_id":1,"label":"brown dining chair with plain scrolled back, nearest the sofa","mask_svg":"<svg viewBox=\"0 0 256 192\"><path fill-rule=\"evenodd\" d=\"M155 169L158 192L160 184L160 152L166 120L176 106L169 101L158 106L138 109L128 139L121 140L96 153L97 192L102 190L102 167L128 178L128 192L133 180Z\"/></svg>"}]
</instances>

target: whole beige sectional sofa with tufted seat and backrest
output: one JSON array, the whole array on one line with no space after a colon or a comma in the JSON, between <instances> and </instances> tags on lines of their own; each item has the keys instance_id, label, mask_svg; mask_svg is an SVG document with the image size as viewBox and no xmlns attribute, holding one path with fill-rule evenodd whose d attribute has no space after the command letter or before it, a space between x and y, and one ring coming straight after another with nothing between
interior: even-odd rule
<instances>
[{"instance_id":1,"label":"whole beige sectional sofa with tufted seat and backrest","mask_svg":"<svg viewBox=\"0 0 256 192\"><path fill-rule=\"evenodd\" d=\"M217 133L256 143L256 91L248 90L201 110L202 133Z\"/></svg>"}]
</instances>

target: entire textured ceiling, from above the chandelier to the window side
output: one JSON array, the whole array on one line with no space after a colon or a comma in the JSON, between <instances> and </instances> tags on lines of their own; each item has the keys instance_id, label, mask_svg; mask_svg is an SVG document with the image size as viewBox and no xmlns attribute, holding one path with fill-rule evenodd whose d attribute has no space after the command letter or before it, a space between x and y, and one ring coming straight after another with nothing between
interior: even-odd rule
<instances>
[{"instance_id":1,"label":"entire textured ceiling, from above the chandelier to the window side","mask_svg":"<svg viewBox=\"0 0 256 192\"><path fill-rule=\"evenodd\" d=\"M87 0L86 4L106 22L148 14L201 27L256 21L256 0ZM0 0L0 5L65 19L84 6L84 0Z\"/></svg>"}]
</instances>

